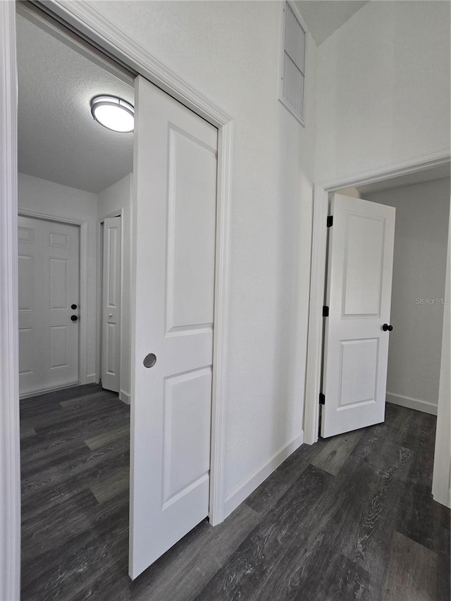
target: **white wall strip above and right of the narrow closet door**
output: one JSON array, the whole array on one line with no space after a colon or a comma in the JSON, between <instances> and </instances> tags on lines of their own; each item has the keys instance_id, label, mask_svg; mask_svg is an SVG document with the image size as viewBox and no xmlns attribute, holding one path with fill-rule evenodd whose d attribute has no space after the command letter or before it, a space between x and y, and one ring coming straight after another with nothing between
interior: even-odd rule
<instances>
[{"instance_id":1,"label":"white wall strip above and right of the narrow closet door","mask_svg":"<svg viewBox=\"0 0 451 601\"><path fill-rule=\"evenodd\" d=\"M130 403L130 200L132 174L99 192L98 218L122 217L121 400Z\"/></svg>"}]
</instances>

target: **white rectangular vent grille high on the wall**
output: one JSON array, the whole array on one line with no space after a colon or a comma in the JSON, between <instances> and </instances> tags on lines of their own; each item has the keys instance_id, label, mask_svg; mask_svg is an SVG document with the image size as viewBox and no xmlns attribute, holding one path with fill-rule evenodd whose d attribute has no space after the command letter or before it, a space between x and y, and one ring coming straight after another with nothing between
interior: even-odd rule
<instances>
[{"instance_id":1,"label":"white rectangular vent grille high on the wall","mask_svg":"<svg viewBox=\"0 0 451 601\"><path fill-rule=\"evenodd\" d=\"M283 76L280 100L299 120L304 119L304 27L288 2L285 2Z\"/></svg>"}]
</instances>

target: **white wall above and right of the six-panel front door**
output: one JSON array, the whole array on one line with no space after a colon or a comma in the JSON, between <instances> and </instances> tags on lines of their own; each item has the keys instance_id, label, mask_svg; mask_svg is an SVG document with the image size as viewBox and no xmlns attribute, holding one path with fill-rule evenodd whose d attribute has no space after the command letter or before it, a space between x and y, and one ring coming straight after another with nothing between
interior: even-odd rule
<instances>
[{"instance_id":1,"label":"white wall above and right of the six-panel front door","mask_svg":"<svg viewBox=\"0 0 451 601\"><path fill-rule=\"evenodd\" d=\"M83 192L19 173L18 205L54 218L68 218L87 223L87 306L80 318L87 352L80 361L82 384L96 380L96 307L97 307L97 194ZM81 257L83 260L83 257ZM85 319L83 323L82 319Z\"/></svg>"}]
</instances>

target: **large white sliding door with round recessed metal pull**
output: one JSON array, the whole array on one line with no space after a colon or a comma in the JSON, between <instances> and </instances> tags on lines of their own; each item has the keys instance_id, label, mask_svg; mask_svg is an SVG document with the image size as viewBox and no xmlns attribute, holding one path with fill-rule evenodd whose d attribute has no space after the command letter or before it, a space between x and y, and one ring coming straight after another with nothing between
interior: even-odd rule
<instances>
[{"instance_id":1,"label":"large white sliding door with round recessed metal pull","mask_svg":"<svg viewBox=\"0 0 451 601\"><path fill-rule=\"evenodd\" d=\"M209 512L216 128L135 87L130 576Z\"/></svg>"}]
</instances>

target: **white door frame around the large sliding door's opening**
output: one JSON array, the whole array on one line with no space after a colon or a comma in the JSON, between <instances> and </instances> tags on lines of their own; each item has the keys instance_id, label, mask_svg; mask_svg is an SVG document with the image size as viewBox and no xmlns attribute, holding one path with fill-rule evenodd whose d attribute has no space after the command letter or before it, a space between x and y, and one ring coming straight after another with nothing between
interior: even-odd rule
<instances>
[{"instance_id":1,"label":"white door frame around the large sliding door's opening","mask_svg":"<svg viewBox=\"0 0 451 601\"><path fill-rule=\"evenodd\" d=\"M25 3L24 3L25 4ZM23 6L20 3L20 6ZM30 5L27 5L30 6ZM225 402L225 380L227 373L226 366L226 339L228 332L228 253L230 248L230 235L229 235L229 206L230 206L230 167L233 160L232 157L232 132L233 132L233 120L228 116L227 113L216 104L212 103L204 97L204 95L198 92L196 89L187 85L187 82L175 75L171 70L155 61L152 56L139 49L132 40L126 38L118 30L111 27L107 20L102 20L102 27L99 30L99 22L97 18L94 18L92 13L83 6L77 6L74 10L75 5L65 4L64 6L56 4L54 2L46 3L42 5L45 12L51 16L56 16L59 23L66 23L71 32L84 32L84 39L94 40L92 42L94 47L100 48L106 52L106 56L101 54L101 57L97 56L97 60L102 65L104 63L110 63L107 56L118 57L118 62L127 66L126 73L139 72L144 77L152 80L156 85L161 87L171 96L187 108L191 109L195 114L208 120L211 125L214 125L219 130L218 136L218 174L217 174L217 190L218 190L218 212L216 220L216 269L215 269L215 335L214 335L214 365L215 374L212 385L212 397L213 397L213 414L212 414L212 427L211 427L211 495L209 504L209 517L213 524L223 521L225 514L225 506L223 500L223 487L224 487L224 435L225 435L225 421L223 420L224 402ZM39 10L38 10L39 12ZM11 155L11 163L5 163L7 173L7 184L6 184L6 214L8 215L8 221L1 228L6 237L9 240L10 232L8 228L12 226L12 230L16 231L17 225L17 190L16 190L16 128L14 124L17 123L17 111L16 111L16 94L14 92L13 80L16 77L16 61L14 44L16 40L16 32L14 31L14 16L12 11L7 7L6 13L8 19L4 21L3 29L5 32L5 52L3 54L4 65L6 68L6 80L11 82L11 87L4 88L4 99L7 114L5 114L4 124L6 124L6 139L4 140L4 148L6 154ZM41 18L42 20L42 18ZM80 34L83 37L83 34ZM69 35L70 36L70 35ZM66 37L66 35L64 36ZM78 35L75 35L75 47L83 52L83 45L80 44ZM122 62L121 62L122 61ZM116 61L115 72L118 73L118 79L123 80L124 75L123 68L118 67ZM114 69L113 69L114 70ZM12 126L10 127L10 125ZM9 165L9 167L8 167ZM8 213L8 211L10 211ZM10 214L11 213L11 214ZM5 271L2 273L6 282L6 289L13 290L17 275L16 268L16 251L14 244L8 242L7 245L8 254L6 256L6 265L11 267L11 271ZM94 256L94 254L92 254ZM89 262L89 266L92 263ZM9 267L8 267L9 269ZM14 295L13 295L14 296ZM6 304L8 307L7 318L11 320L11 323L16 324L16 311L17 307L13 304ZM11 329L11 328L10 328ZM87 328L90 331L90 328ZM15 330L15 328L14 328ZM9 330L8 330L9 336ZM11 507L18 507L20 505L20 489L19 489L19 460L18 460L18 449L19 449L19 435L18 435L18 420L17 407L16 407L16 391L18 390L18 362L16 361L16 352L18 351L18 344L16 335L13 335L11 330L11 336L8 337L8 352L11 352L11 380L5 384L4 391L9 399L9 402L5 408L8 419L4 423L3 430L8 441L9 448L13 450L13 454L10 457L8 464L8 475L6 481L8 484L8 490L10 494L8 501L10 504L5 505L4 515L11 523L11 528L8 533L8 540L5 541L4 546L8 549L8 555L11 557L11 577L6 583L8 590L14 590L18 592L18 566L19 566L19 554L18 554L18 540L20 533L20 520L18 519L18 512L12 512L8 509ZM96 354L95 347L90 348L90 352ZM89 374L88 374L89 375ZM10 519L11 518L11 519Z\"/></svg>"}]
</instances>

